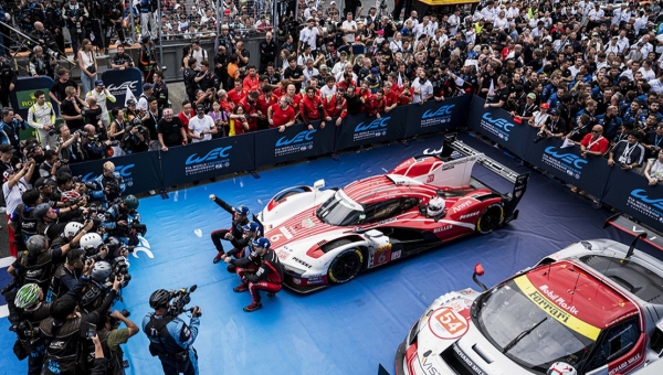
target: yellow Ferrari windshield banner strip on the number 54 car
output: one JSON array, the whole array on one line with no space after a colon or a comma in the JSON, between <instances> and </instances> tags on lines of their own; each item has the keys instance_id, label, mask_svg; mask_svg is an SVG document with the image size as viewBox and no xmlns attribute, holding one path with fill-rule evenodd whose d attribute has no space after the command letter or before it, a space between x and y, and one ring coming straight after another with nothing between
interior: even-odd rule
<instances>
[{"instance_id":1,"label":"yellow Ferrari windshield banner strip on the number 54 car","mask_svg":"<svg viewBox=\"0 0 663 375\"><path fill-rule=\"evenodd\" d=\"M564 308L549 300L545 294L537 290L532 281L529 281L527 275L515 278L514 282L520 288L525 297L556 321L593 341L599 338L599 333L601 333L600 329L576 318Z\"/></svg>"}]
</instances>

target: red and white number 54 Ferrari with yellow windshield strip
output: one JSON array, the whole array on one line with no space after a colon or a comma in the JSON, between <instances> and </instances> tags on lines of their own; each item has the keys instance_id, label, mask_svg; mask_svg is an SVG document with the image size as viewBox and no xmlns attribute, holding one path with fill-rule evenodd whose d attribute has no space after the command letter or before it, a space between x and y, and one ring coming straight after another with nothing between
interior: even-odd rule
<instances>
[{"instance_id":1,"label":"red and white number 54 Ferrari with yellow windshield strip","mask_svg":"<svg viewBox=\"0 0 663 375\"><path fill-rule=\"evenodd\" d=\"M397 374L615 375L660 360L663 261L635 240L583 240L483 292L439 297L399 346Z\"/></svg>"}]
</instances>

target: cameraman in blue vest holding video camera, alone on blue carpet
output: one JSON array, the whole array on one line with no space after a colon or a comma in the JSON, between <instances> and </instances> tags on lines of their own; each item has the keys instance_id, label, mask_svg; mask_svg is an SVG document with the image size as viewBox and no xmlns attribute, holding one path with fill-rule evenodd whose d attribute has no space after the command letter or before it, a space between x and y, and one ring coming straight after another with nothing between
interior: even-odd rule
<instances>
[{"instance_id":1,"label":"cameraman in blue vest holding video camera, alone on blue carpet","mask_svg":"<svg viewBox=\"0 0 663 375\"><path fill-rule=\"evenodd\" d=\"M143 332L149 339L149 352L161 361L164 374L196 375L198 371L198 354L193 342L198 336L201 311L194 307L189 324L177 315L168 312L168 303L172 294L158 289L149 297L149 307L155 312L143 319Z\"/></svg>"}]
</instances>

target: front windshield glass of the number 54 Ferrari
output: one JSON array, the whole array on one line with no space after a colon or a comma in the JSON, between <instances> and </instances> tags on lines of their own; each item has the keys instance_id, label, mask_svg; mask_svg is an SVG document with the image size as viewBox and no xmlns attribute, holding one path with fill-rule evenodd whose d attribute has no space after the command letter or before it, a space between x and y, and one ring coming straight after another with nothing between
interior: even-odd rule
<instances>
[{"instance_id":1,"label":"front windshield glass of the number 54 Ferrari","mask_svg":"<svg viewBox=\"0 0 663 375\"><path fill-rule=\"evenodd\" d=\"M475 303L480 306L474 321L483 335L529 371L545 374L559 361L581 368L594 344L594 340L567 328L534 303L514 280Z\"/></svg>"}]
</instances>

